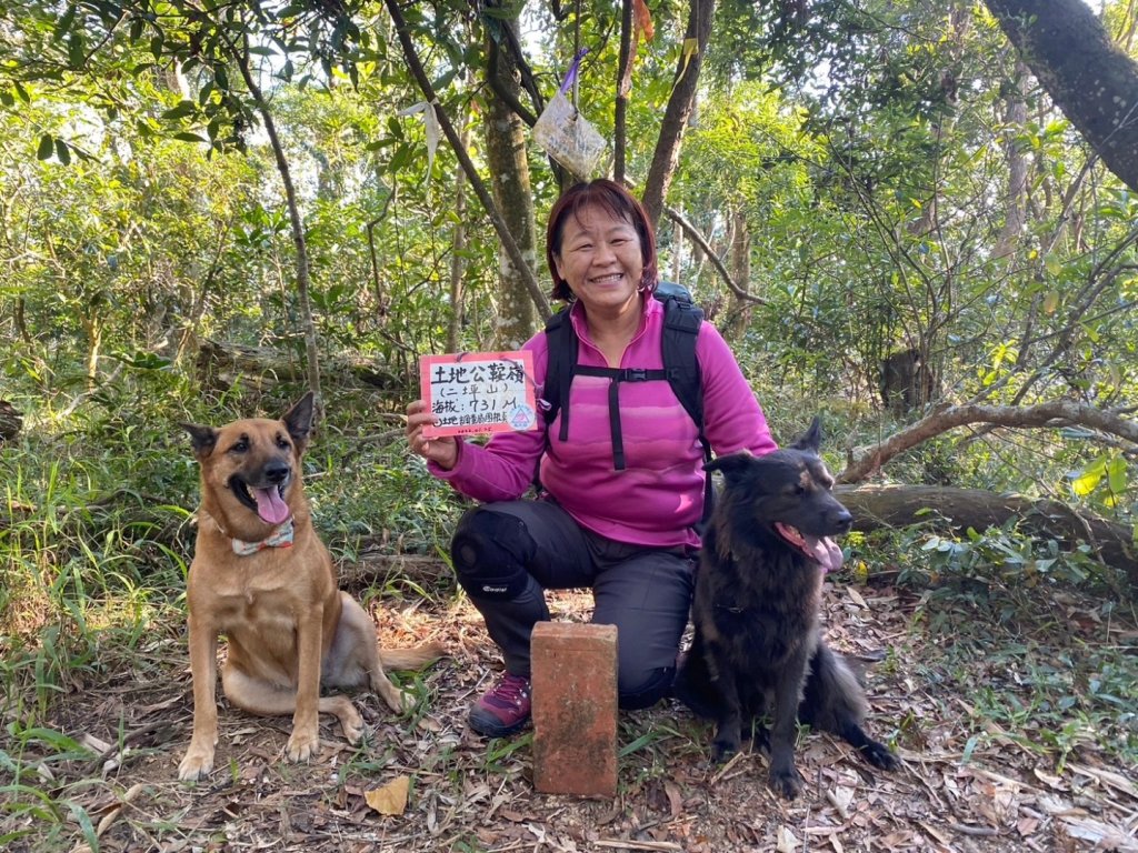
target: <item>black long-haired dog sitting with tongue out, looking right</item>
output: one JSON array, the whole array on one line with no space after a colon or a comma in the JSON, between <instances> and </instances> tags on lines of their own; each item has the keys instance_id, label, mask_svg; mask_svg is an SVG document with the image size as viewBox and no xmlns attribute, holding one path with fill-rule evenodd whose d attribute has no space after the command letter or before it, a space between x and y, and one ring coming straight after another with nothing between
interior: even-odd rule
<instances>
[{"instance_id":1,"label":"black long-haired dog sitting with tongue out, looking right","mask_svg":"<svg viewBox=\"0 0 1138 853\"><path fill-rule=\"evenodd\" d=\"M786 797L802 788L795 719L844 738L875 767L898 767L863 730L861 686L818 628L823 575L842 563L831 537L852 521L831 492L819 440L815 419L790 448L708 464L725 485L703 537L695 637L676 679L676 695L717 721L718 760L739 750L744 724L773 710L769 739L761 726L754 737L769 746L770 785Z\"/></svg>"}]
</instances>

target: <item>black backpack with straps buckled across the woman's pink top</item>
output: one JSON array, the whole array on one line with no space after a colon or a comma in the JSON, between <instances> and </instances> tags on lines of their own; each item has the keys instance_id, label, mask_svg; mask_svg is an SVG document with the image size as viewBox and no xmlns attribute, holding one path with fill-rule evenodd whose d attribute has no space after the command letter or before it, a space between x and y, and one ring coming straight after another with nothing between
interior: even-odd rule
<instances>
[{"instance_id":1,"label":"black backpack with straps buckled across the woman's pink top","mask_svg":"<svg viewBox=\"0 0 1138 853\"><path fill-rule=\"evenodd\" d=\"M549 347L549 365L545 371L545 388L542 397L550 407L545 411L545 423L552 424L558 412L561 417L560 439L569 440L569 387L575 375L607 376L609 383L609 424L612 430L612 463L617 471L625 469L625 447L620 431L620 383L651 382L667 380L673 392L683 405L695 429L703 448L704 464L711 461L711 444L703 434L703 382L699 361L695 358L695 340L699 337L703 312L692 301L691 293L679 284L661 281L655 289L655 298L663 303L663 368L643 367L586 367L577 364L577 336L569 312L560 310L545 323ZM711 478L707 478L703 492L703 521L711 512Z\"/></svg>"}]
</instances>

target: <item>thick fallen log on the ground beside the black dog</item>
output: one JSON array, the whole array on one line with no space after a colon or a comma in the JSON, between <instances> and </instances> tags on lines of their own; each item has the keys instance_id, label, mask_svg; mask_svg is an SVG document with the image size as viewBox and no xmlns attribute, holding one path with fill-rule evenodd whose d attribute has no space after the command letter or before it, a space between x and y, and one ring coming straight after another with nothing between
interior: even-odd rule
<instances>
[{"instance_id":1,"label":"thick fallen log on the ground beside the black dog","mask_svg":"<svg viewBox=\"0 0 1138 853\"><path fill-rule=\"evenodd\" d=\"M1088 544L1098 560L1124 571L1138 588L1130 527L1078 513L1057 500L942 486L839 486L834 494L853 513L855 530L905 527L929 519L946 519L956 529L986 530L1020 519L1031 533L1056 539L1065 548Z\"/></svg>"}]
</instances>

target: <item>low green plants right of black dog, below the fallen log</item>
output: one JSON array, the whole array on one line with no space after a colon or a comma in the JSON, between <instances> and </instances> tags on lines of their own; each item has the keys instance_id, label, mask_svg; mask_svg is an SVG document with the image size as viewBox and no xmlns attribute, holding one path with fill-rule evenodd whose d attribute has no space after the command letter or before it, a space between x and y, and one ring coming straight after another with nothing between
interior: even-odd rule
<instances>
[{"instance_id":1,"label":"low green plants right of black dog, below the fallen log","mask_svg":"<svg viewBox=\"0 0 1138 853\"><path fill-rule=\"evenodd\" d=\"M921 654L887 655L883 671L908 668L960 697L946 713L975 731L966 756L999 740L1055 772L1085 746L1138 764L1136 612L1115 573L1012 525L959 537L916 527L859 548L920 597L909 641ZM1115 623L1131 639L1118 640ZM918 729L902 720L898 740L916 743Z\"/></svg>"}]
</instances>

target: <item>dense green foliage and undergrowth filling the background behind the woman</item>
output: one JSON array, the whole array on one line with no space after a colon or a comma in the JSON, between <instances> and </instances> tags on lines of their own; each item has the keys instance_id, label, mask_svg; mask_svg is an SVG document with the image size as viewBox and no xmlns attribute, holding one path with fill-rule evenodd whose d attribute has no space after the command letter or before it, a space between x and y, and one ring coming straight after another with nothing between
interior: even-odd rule
<instances>
[{"instance_id":1,"label":"dense green foliage and undergrowth filling the background behind the woman","mask_svg":"<svg viewBox=\"0 0 1138 853\"><path fill-rule=\"evenodd\" d=\"M640 44L628 102L634 183L648 173L683 51L685 5L652 6L658 34ZM487 40L504 38L502 20L519 8L405 9L440 107L470 117L478 164L493 132L479 69ZM579 106L608 134L619 9L579 8L589 48ZM794 8L720 3L668 193L761 301L739 301L688 237L668 220L659 229L661 268L728 338L780 440L820 414L839 470L925 414L881 405L881 361L907 348L927 356L953 403L1062 398L1132 411L1138 199L1022 78L995 22L980 7L927 2L827 0L805 20ZM43 734L53 698L145 649L148 632L181 624L197 471L178 424L278 415L304 390L288 379L306 357L295 234L242 66L296 175L330 374L305 463L318 527L341 558L374 547L444 555L463 508L407 454L398 416L415 394L418 356L446 346L452 320L462 349L494 340L498 246L469 187L460 223L446 144L428 173L421 121L398 115L422 94L377 9L31 2L0 28L0 398L25 415L24 432L0 446L0 685L14 721L0 767L15 776L6 795L34 813L48 844L68 821L90 828L68 792L49 793L25 761L75 754ZM523 49L547 98L578 22L572 11L554 22L543 7L523 25L530 14ZM1121 7L1107 5L1106 17L1124 32ZM558 188L542 152L527 155L544 212ZM1004 251L1014 155L1024 222ZM460 224L470 243L453 300ZM734 238L745 264L733 258ZM211 372L197 363L205 341L271 349L275 366ZM356 368L374 384L353 379ZM929 439L882 477L1057 496L1132 524L1132 464L1121 437L1064 424ZM905 589L927 593L923 618L938 636L959 632L978 608L1019 630L1030 623L1026 590L1092 593L1111 616L1121 585L1081 550L1013 524L933 530L851 543L851 565L869 577L890 566ZM366 595L450 591L396 578ZM960 647L986 649L979 639ZM1133 748L1132 717L1110 717L1132 684L1127 661L1026 641L1006 655L1001 664L1026 661L1022 684L978 696L978 721L1036 732L1059 756L1091 736ZM622 730L637 785L663 772L667 753L698 743L652 731ZM498 744L484 772L520 772L517 748Z\"/></svg>"}]
</instances>

